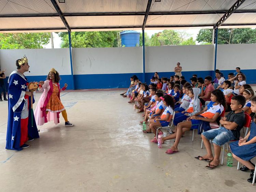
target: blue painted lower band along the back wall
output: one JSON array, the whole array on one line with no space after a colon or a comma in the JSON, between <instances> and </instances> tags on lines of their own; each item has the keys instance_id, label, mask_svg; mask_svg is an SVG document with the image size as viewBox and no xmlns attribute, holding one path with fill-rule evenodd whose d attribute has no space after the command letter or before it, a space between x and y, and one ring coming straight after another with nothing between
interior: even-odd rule
<instances>
[{"instance_id":1,"label":"blue painted lower band along the back wall","mask_svg":"<svg viewBox=\"0 0 256 192\"><path fill-rule=\"evenodd\" d=\"M224 76L227 78L229 73L233 73L233 70L223 70ZM247 84L256 84L256 69L254 70L242 70L246 75ZM160 77L168 77L174 75L174 72L159 72ZM185 76L186 80L197 74L198 77L205 77L212 75L213 71L184 71L182 75ZM109 89L109 88L127 88L130 85L130 77L137 75L142 80L143 73L122 73L122 74L89 74L89 75L74 75L75 89ZM146 73L146 83L150 83L150 78L154 73ZM27 76L28 81L40 81L45 80L46 76ZM7 79L5 80L6 87L8 87ZM74 89L72 86L72 75L61 75L60 87L63 87L67 83L69 86L67 89Z\"/></svg>"}]
</instances>

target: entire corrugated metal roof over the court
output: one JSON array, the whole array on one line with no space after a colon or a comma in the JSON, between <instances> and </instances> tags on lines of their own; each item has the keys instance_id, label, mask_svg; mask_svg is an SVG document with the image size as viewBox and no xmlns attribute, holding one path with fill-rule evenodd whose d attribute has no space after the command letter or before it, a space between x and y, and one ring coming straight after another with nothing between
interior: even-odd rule
<instances>
[{"instance_id":1,"label":"entire corrugated metal roof over the court","mask_svg":"<svg viewBox=\"0 0 256 192\"><path fill-rule=\"evenodd\" d=\"M255 27L256 0L0 0L0 32L213 28L236 3L219 28Z\"/></svg>"}]
</instances>

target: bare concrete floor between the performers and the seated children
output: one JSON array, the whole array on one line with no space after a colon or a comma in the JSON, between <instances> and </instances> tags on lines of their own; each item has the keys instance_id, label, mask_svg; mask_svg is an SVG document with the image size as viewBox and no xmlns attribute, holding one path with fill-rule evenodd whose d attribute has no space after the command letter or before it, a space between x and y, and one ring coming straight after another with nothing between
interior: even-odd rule
<instances>
[{"instance_id":1,"label":"bare concrete floor between the performers and the seated children","mask_svg":"<svg viewBox=\"0 0 256 192\"><path fill-rule=\"evenodd\" d=\"M246 181L250 173L237 171L236 161L234 167L209 170L206 162L196 160L206 151L199 135L191 141L191 131L181 139L179 153L165 154L173 140L158 149L150 142L153 135L142 133L141 114L120 92L62 92L75 126L65 127L62 117L58 125L46 123L39 127L40 138L22 151L5 149L8 102L0 102L0 191L256 190Z\"/></svg>"}]
</instances>

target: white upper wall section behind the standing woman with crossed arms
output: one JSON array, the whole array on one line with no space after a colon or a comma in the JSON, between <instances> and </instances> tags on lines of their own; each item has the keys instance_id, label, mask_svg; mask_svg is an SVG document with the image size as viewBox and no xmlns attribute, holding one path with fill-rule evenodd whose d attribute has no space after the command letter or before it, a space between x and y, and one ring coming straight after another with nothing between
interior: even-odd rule
<instances>
[{"instance_id":1,"label":"white upper wall section behind the standing woman with crossed arms","mask_svg":"<svg viewBox=\"0 0 256 192\"><path fill-rule=\"evenodd\" d=\"M213 70L213 45L146 47L146 72L173 71L180 62L183 71Z\"/></svg>"}]
</instances>

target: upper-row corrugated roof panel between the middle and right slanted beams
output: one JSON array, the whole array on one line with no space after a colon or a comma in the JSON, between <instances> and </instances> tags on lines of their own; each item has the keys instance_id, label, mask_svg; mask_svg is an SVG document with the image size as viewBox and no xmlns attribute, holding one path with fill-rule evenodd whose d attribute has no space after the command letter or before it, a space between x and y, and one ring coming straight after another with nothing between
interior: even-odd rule
<instances>
[{"instance_id":1,"label":"upper-row corrugated roof panel between the middle and right slanted beams","mask_svg":"<svg viewBox=\"0 0 256 192\"><path fill-rule=\"evenodd\" d=\"M236 0L161 0L153 1L150 12L226 11Z\"/></svg>"}]
</instances>

